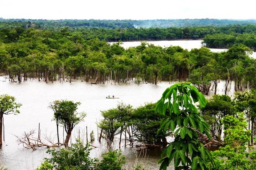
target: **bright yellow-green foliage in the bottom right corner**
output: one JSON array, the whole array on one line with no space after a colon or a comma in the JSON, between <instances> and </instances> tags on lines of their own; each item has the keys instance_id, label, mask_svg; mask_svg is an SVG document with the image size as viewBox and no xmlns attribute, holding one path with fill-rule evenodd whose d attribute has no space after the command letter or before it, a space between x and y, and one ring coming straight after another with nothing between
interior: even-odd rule
<instances>
[{"instance_id":1,"label":"bright yellow-green foliage in the bottom right corner","mask_svg":"<svg viewBox=\"0 0 256 170\"><path fill-rule=\"evenodd\" d=\"M217 164L212 170L254 170L256 152L248 152L250 130L243 113L223 117L225 145L212 152Z\"/></svg>"}]
</instances>

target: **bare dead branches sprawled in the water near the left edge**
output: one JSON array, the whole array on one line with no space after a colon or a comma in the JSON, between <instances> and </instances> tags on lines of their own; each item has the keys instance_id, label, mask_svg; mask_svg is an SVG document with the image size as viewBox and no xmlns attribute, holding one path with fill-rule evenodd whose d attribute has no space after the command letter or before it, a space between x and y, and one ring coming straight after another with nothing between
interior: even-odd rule
<instances>
[{"instance_id":1,"label":"bare dead branches sprawled in the water near the left edge","mask_svg":"<svg viewBox=\"0 0 256 170\"><path fill-rule=\"evenodd\" d=\"M40 139L40 133L38 134L38 137L34 137L35 130L30 130L30 132L24 132L22 136L16 136L18 144L22 144L24 148L32 148L32 150L36 150L36 147L58 147L62 144L60 143L53 143L50 141L49 138L46 138L48 143L42 142ZM59 145L60 144L60 145Z\"/></svg>"}]
</instances>

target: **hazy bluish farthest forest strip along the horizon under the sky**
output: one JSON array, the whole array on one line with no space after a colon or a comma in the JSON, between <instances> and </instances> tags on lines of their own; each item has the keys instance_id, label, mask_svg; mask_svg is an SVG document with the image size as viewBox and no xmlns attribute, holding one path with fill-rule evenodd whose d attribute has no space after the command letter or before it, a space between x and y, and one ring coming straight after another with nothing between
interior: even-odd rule
<instances>
[{"instance_id":1,"label":"hazy bluish farthest forest strip along the horizon under the sky","mask_svg":"<svg viewBox=\"0 0 256 170\"><path fill-rule=\"evenodd\" d=\"M179 20L30 20L0 18L0 28L22 26L38 29L56 30L64 26L70 28L169 28L256 25L256 20L217 20L217 19L179 19Z\"/></svg>"}]
</instances>

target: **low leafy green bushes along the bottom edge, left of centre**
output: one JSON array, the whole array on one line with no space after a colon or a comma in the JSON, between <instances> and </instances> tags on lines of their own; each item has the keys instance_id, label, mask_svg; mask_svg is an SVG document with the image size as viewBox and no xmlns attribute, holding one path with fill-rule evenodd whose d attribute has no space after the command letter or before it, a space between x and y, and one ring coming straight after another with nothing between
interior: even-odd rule
<instances>
[{"instance_id":1,"label":"low leafy green bushes along the bottom edge, left of centre","mask_svg":"<svg viewBox=\"0 0 256 170\"><path fill-rule=\"evenodd\" d=\"M89 144L84 146L79 140L67 149L48 149L51 157L36 170L121 170L125 163L119 150L103 153L101 160L90 158L90 150Z\"/></svg>"}]
</instances>

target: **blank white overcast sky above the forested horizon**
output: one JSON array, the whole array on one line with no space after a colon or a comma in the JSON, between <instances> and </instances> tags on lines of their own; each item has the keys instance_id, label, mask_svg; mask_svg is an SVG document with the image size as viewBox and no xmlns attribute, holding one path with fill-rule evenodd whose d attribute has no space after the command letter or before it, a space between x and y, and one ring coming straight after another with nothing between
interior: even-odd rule
<instances>
[{"instance_id":1,"label":"blank white overcast sky above the forested horizon","mask_svg":"<svg viewBox=\"0 0 256 170\"><path fill-rule=\"evenodd\" d=\"M0 0L0 18L255 19L256 0Z\"/></svg>"}]
</instances>

